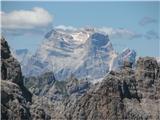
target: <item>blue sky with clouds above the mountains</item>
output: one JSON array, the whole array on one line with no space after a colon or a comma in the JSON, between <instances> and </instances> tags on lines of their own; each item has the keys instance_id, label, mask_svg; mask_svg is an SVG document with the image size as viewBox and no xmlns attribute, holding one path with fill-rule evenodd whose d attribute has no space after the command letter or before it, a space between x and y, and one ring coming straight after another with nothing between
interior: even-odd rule
<instances>
[{"instance_id":1,"label":"blue sky with clouds above the mountains","mask_svg":"<svg viewBox=\"0 0 160 120\"><path fill-rule=\"evenodd\" d=\"M160 56L160 2L1 3L2 35L13 49L32 52L54 27L96 27L107 31L117 52Z\"/></svg>"}]
</instances>

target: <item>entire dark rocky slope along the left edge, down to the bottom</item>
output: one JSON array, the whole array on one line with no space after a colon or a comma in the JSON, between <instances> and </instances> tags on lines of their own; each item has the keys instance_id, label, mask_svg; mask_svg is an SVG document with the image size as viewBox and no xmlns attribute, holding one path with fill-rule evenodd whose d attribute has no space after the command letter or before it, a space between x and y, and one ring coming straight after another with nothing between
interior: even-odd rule
<instances>
[{"instance_id":1,"label":"entire dark rocky slope along the left edge, down to the bottom","mask_svg":"<svg viewBox=\"0 0 160 120\"><path fill-rule=\"evenodd\" d=\"M32 94L24 87L20 64L1 38L1 119L49 119L41 105L34 106Z\"/></svg>"}]
</instances>

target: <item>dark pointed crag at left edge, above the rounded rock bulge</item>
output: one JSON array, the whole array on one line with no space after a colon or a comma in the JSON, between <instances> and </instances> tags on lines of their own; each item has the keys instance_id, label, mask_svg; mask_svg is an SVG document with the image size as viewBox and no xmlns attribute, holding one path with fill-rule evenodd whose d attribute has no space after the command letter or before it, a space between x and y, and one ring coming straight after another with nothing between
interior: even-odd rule
<instances>
[{"instance_id":1,"label":"dark pointed crag at left edge, above the rounded rock bulge","mask_svg":"<svg viewBox=\"0 0 160 120\"><path fill-rule=\"evenodd\" d=\"M4 38L1 39L1 61L2 79L23 85L20 64L11 56L8 43Z\"/></svg>"}]
</instances>

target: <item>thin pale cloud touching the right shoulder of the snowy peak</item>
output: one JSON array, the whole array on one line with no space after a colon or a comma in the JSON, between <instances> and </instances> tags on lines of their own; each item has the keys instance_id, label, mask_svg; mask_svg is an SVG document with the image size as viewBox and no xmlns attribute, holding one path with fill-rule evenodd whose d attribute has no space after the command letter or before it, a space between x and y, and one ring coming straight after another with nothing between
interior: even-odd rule
<instances>
[{"instance_id":1,"label":"thin pale cloud touching the right shoulder of the snowy peak","mask_svg":"<svg viewBox=\"0 0 160 120\"><path fill-rule=\"evenodd\" d=\"M125 28L102 27L99 28L99 31L105 32L111 38L133 39L141 37L140 34Z\"/></svg>"}]
</instances>

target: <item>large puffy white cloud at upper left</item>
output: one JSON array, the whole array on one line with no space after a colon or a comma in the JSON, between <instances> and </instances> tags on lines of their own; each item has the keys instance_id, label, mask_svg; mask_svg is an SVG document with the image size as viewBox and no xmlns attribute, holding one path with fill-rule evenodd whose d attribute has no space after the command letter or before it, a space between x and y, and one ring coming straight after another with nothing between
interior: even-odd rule
<instances>
[{"instance_id":1,"label":"large puffy white cloud at upper left","mask_svg":"<svg viewBox=\"0 0 160 120\"><path fill-rule=\"evenodd\" d=\"M43 8L34 7L32 10L15 10L10 13L0 12L2 28L33 29L45 27L52 22L52 16Z\"/></svg>"}]
</instances>

